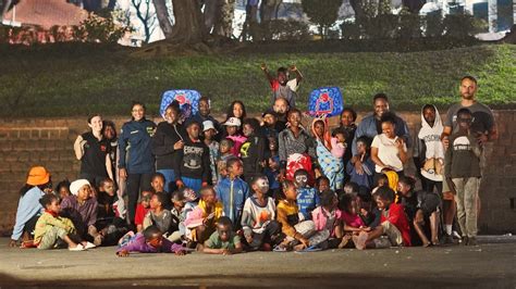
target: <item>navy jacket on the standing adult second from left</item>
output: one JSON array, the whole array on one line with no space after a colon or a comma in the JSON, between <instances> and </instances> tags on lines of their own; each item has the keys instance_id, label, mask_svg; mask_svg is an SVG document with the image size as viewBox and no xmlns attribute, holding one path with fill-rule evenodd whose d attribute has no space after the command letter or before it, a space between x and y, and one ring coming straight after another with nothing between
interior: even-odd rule
<instances>
[{"instance_id":1,"label":"navy jacket on the standing adult second from left","mask_svg":"<svg viewBox=\"0 0 516 289\"><path fill-rule=\"evenodd\" d=\"M127 174L151 174L155 171L151 138L155 133L156 124L151 121L125 123L119 138L119 168L127 169Z\"/></svg>"}]
</instances>

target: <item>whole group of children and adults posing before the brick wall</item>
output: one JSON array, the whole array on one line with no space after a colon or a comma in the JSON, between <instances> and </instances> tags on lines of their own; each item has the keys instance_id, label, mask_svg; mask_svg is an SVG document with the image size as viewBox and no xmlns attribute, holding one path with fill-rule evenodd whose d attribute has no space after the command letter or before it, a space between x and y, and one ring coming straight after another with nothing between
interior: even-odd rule
<instances>
[{"instance_id":1,"label":"whole group of children and adults posing before the brick wall","mask_svg":"<svg viewBox=\"0 0 516 289\"><path fill-rule=\"evenodd\" d=\"M275 77L261 68L272 90L261 120L236 100L219 123L207 97L187 118L172 102L158 125L134 102L120 135L112 122L89 117L74 143L77 180L53 189L45 167L30 168L11 246L232 254L429 247L456 242L454 231L477 243L483 147L497 131L475 99L474 77L460 79L460 102L444 121L426 104L411 137L384 93L360 123L351 108L334 129L324 116L307 122L295 105L297 68ZM404 171L409 149L415 177Z\"/></svg>"}]
</instances>

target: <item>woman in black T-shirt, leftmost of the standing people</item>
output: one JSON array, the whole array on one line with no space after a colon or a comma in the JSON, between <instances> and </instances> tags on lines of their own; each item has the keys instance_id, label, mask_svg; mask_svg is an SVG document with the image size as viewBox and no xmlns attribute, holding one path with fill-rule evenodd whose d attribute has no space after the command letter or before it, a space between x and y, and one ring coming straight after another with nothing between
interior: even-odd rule
<instances>
[{"instance_id":1,"label":"woman in black T-shirt, leftmost of the standing people","mask_svg":"<svg viewBox=\"0 0 516 289\"><path fill-rule=\"evenodd\" d=\"M88 118L90 131L82 134L73 146L75 156L81 161L79 178L87 179L95 187L107 177L113 179L110 143L102 135L102 117L98 114Z\"/></svg>"}]
</instances>

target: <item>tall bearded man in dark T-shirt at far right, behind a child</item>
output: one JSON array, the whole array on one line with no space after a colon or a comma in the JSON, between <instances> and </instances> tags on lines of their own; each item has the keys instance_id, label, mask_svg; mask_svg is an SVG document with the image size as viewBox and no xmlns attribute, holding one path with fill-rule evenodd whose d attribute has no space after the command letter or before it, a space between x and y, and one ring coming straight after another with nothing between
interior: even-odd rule
<instances>
[{"instance_id":1,"label":"tall bearded man in dark T-shirt at far right, behind a child","mask_svg":"<svg viewBox=\"0 0 516 289\"><path fill-rule=\"evenodd\" d=\"M482 168L486 165L486 154L483 151L483 147L489 141L493 141L497 139L499 133L496 128L496 123L494 121L494 115L491 109L478 102L477 99L475 98L477 90L478 90L478 84L475 77L464 76L460 79L460 87L459 87L460 102L453 104L447 110L446 117L444 120L444 129L441 135L441 140L444 144L444 148L447 149L450 144L450 141L449 141L450 135L458 130L458 124L456 120L457 112L463 108L468 109L474 116L474 121L471 123L471 133L476 135L477 141L479 142L480 148L482 149L481 154L480 154L480 169L482 171ZM444 223L445 223L446 234L449 235L446 237L447 238L446 241L451 241L452 223L455 216L455 203L453 201L453 198L450 198L451 196L446 196L446 192L450 192L450 191L451 190L447 186L447 183L443 181L443 193L445 193L444 199L452 201L451 203L450 201L444 202L444 209L445 209ZM477 200L478 200L478 204L477 204L478 211L480 211L480 197L477 197Z\"/></svg>"}]
</instances>

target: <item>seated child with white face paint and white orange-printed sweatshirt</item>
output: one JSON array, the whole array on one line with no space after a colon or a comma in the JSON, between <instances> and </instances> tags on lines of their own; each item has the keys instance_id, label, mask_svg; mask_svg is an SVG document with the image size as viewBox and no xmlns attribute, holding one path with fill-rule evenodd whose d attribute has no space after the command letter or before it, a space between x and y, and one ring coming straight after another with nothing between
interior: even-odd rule
<instances>
[{"instance_id":1,"label":"seated child with white face paint and white orange-printed sweatshirt","mask_svg":"<svg viewBox=\"0 0 516 289\"><path fill-rule=\"evenodd\" d=\"M274 200L267 197L269 181L265 176L255 177L250 184L254 194L245 201L242 215L244 237L251 250L270 251L281 233L280 224L274 219Z\"/></svg>"}]
</instances>

